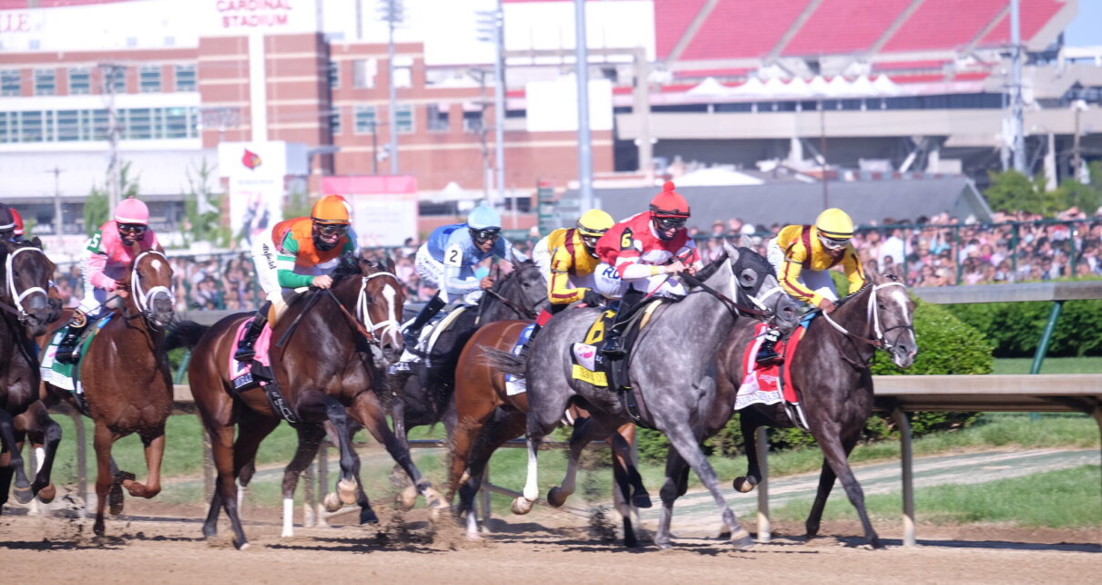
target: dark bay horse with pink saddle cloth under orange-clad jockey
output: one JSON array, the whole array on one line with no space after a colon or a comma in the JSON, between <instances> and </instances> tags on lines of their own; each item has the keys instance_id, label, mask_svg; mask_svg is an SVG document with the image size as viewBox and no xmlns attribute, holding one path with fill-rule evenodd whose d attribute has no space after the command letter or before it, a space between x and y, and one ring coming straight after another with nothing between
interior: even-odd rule
<instances>
[{"instance_id":1,"label":"dark bay horse with pink saddle cloth under orange-clad jockey","mask_svg":"<svg viewBox=\"0 0 1102 585\"><path fill-rule=\"evenodd\" d=\"M288 412L299 421L300 452L320 441L324 421L336 430L341 478L336 495L326 497L331 509L341 502L356 502L360 490L356 478L358 457L349 441L349 415L386 445L431 506L442 505L440 495L413 465L404 443L387 426L382 402L386 397L380 396L388 356L402 350L396 317L401 314L404 295L392 268L392 263L380 266L352 254L342 257L332 274L333 286L294 299L272 329L272 339L279 342L270 350L271 370ZM238 516L235 479L252 463L260 442L281 420L263 389L233 390L229 359L236 333L247 317L231 315L209 328L185 323L174 331L170 343L194 347L188 366L192 393L210 434L218 470L203 533L207 538L217 533L218 513L225 509L238 549L247 548L248 540ZM235 424L239 426L236 443ZM285 514L284 521L289 517Z\"/></svg>"}]
</instances>

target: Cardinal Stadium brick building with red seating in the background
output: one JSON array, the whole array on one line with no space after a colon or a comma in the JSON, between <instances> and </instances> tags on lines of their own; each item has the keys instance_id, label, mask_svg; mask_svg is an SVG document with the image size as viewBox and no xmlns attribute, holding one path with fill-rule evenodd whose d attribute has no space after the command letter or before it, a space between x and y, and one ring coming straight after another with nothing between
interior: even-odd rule
<instances>
[{"instance_id":1,"label":"Cardinal Stadium brick building with red seating in the background","mask_svg":"<svg viewBox=\"0 0 1102 585\"><path fill-rule=\"evenodd\" d=\"M114 110L118 153L165 230L219 144L299 145L282 162L316 193L325 176L389 173L391 129L422 227L447 220L490 188L494 51L475 11L495 3L404 1L393 111L378 4L0 0L0 199L48 234L56 198L78 238ZM1102 152L1102 48L1061 45L1077 0L1020 7L1027 160L1062 178ZM766 182L982 181L1008 160L1009 19L1007 0L591 1L597 185L694 163ZM572 2L506 0L504 23L505 188L525 212L537 182L577 176Z\"/></svg>"}]
</instances>

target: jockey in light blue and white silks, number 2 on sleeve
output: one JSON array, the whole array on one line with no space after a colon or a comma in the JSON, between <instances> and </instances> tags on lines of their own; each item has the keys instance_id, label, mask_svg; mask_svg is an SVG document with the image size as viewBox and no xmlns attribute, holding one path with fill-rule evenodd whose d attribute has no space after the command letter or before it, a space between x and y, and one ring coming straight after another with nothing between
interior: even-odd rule
<instances>
[{"instance_id":1,"label":"jockey in light blue and white silks, number 2 on sleeve","mask_svg":"<svg viewBox=\"0 0 1102 585\"><path fill-rule=\"evenodd\" d=\"M414 268L421 282L437 288L439 292L406 327L409 347L417 344L421 328L449 301L475 304L482 291L494 285L489 277L475 277L475 267L491 256L509 261L527 260L501 237L501 216L491 207L479 205L467 215L466 224L441 226L432 231L429 241L418 248Z\"/></svg>"}]
</instances>

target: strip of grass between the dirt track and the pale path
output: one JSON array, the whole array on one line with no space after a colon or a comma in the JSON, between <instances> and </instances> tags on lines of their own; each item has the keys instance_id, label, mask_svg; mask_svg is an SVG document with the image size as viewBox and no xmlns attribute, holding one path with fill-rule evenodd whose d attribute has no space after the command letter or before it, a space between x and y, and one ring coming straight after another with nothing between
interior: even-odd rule
<instances>
[{"instance_id":1,"label":"strip of grass between the dirt track and the pale path","mask_svg":"<svg viewBox=\"0 0 1102 585\"><path fill-rule=\"evenodd\" d=\"M943 485L915 490L915 508L923 521L963 523L1008 523L1026 528L1098 528L1102 522L1099 484L1102 468L1084 465L1026 477L976 485ZM899 516L899 492L875 494L865 498L874 520ZM793 501L777 510L777 520L802 521L811 510L811 499ZM856 520L844 497L831 498L823 512L827 520Z\"/></svg>"}]
</instances>

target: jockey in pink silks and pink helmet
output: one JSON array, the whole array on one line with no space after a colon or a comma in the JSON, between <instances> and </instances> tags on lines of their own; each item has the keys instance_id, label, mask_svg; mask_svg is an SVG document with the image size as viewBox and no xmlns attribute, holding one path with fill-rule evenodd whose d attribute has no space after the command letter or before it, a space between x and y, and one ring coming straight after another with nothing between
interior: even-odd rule
<instances>
[{"instance_id":1,"label":"jockey in pink silks and pink helmet","mask_svg":"<svg viewBox=\"0 0 1102 585\"><path fill-rule=\"evenodd\" d=\"M80 258L84 274L84 300L73 311L73 318L66 325L65 337L57 345L54 359L72 364L80 335L95 318L108 295L126 299L129 292L118 289L118 279L126 274L134 258L149 250L163 251L156 235L149 229L149 208L145 204L128 197L119 202L115 216L99 227L88 239Z\"/></svg>"}]
</instances>

